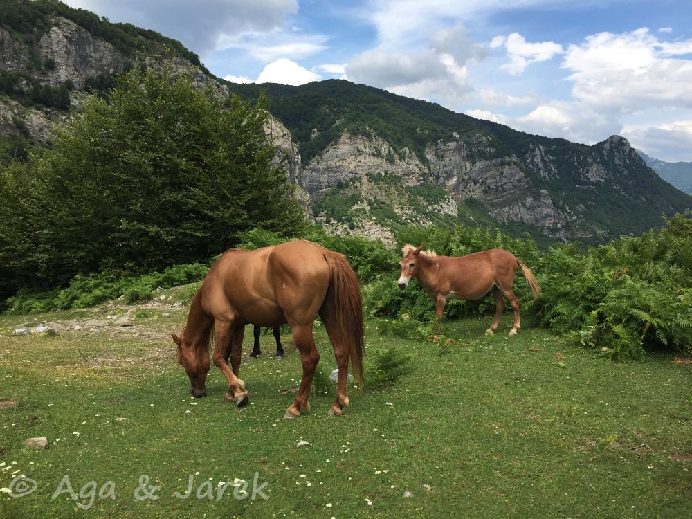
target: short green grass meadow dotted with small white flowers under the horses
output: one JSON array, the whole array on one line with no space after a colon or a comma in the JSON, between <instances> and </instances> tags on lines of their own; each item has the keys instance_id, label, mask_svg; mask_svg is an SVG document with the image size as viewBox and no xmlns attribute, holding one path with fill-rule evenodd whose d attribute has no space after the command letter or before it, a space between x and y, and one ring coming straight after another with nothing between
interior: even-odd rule
<instances>
[{"instance_id":1,"label":"short green grass meadow dotted with small white flowers under the horses","mask_svg":"<svg viewBox=\"0 0 692 519\"><path fill-rule=\"evenodd\" d=\"M351 407L343 417L327 415L332 386L328 394L313 392L311 412L284 420L293 395L280 390L300 379L290 336L283 338L284 361L271 358L273 338L263 336L262 358L242 364L251 405L239 410L221 400L227 385L215 367L208 397L190 398L167 336L179 331L183 309L171 316L161 309L138 312L134 327L59 336L10 336L26 317L0 317L0 399L16 401L0 408L0 464L6 464L0 486L16 470L38 484L23 498L0 494L0 517L668 518L692 512L692 461L677 461L692 456L692 366L671 363L670 356L611 363L529 323L508 338L509 316L504 332L491 337L483 335L484 320L446 322L449 345L384 336L372 320L366 359L397 347L412 356L412 370L383 388L349 388ZM251 339L248 329L245 355ZM316 340L321 370L329 374L335 362L323 329L316 329ZM24 439L36 436L48 437L50 448L24 448ZM312 446L298 447L299 441ZM6 466L12 468L3 471ZM266 501L237 500L232 488L221 500L174 497L187 489L190 475L197 490L205 481L216 489L236 477L252 484L255 473L260 484L268 482ZM158 500L134 498L145 474L150 485L161 486ZM64 475L76 493L93 481L98 494L112 481L116 498L97 495L88 512L67 494L51 500ZM89 486L79 502L89 504L88 494Z\"/></svg>"}]
</instances>

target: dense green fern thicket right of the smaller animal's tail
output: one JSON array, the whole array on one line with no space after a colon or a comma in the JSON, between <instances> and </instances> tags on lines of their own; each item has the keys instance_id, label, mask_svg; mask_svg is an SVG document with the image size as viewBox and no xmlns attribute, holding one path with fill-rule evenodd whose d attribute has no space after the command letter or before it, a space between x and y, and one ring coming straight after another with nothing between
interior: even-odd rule
<instances>
[{"instance_id":1,"label":"dense green fern thicket right of the smaller animal's tail","mask_svg":"<svg viewBox=\"0 0 692 519\"><path fill-rule=\"evenodd\" d=\"M537 268L543 296L530 311L614 358L639 358L645 347L691 353L692 220L666 224L588 251L549 249Z\"/></svg>"}]
</instances>

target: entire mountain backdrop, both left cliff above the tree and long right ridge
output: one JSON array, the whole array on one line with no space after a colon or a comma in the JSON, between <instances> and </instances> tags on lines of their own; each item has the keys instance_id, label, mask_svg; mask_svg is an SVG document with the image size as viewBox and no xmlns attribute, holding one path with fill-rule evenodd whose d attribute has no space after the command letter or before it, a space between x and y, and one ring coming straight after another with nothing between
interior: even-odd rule
<instances>
[{"instance_id":1,"label":"entire mountain backdrop, both left cliff above the tree and long right ridge","mask_svg":"<svg viewBox=\"0 0 692 519\"><path fill-rule=\"evenodd\" d=\"M0 167L133 66L221 96L265 91L296 195L334 233L393 242L411 224L462 224L597 243L692 207L620 136L586 146L525 134L343 80L232 84L173 39L56 0L0 0Z\"/></svg>"}]
</instances>

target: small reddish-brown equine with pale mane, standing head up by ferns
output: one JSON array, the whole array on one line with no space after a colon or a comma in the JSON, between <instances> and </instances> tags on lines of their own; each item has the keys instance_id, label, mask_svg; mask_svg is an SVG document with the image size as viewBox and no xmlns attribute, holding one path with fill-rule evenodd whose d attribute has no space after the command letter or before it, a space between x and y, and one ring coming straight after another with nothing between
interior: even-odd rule
<instances>
[{"instance_id":1,"label":"small reddish-brown equine with pale mane, standing head up by ferns","mask_svg":"<svg viewBox=\"0 0 692 519\"><path fill-rule=\"evenodd\" d=\"M435 318L438 323L449 298L474 300L492 293L495 298L495 318L487 333L492 334L498 329L504 312L504 295L514 311L514 327L509 335L516 335L520 328L519 300L514 295L512 286L517 265L524 271L534 299L540 295L540 286L529 267L501 248L491 248L462 257L438 256L434 251L421 251L423 244L419 247L408 244L403 246L398 284L400 289L405 289L411 278L416 277L435 302Z\"/></svg>"}]
</instances>

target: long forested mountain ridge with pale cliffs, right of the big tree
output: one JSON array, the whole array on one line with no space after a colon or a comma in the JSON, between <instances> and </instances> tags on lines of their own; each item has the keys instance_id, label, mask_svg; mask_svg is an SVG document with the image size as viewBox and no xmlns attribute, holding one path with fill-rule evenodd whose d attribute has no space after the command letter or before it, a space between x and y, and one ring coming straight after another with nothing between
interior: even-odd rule
<instances>
[{"instance_id":1,"label":"long forested mountain ridge with pale cliffs, right of the big tree","mask_svg":"<svg viewBox=\"0 0 692 519\"><path fill-rule=\"evenodd\" d=\"M343 232L453 220L601 242L692 205L621 136L587 146L525 134L343 80L226 86L266 92L313 214Z\"/></svg>"}]
</instances>

